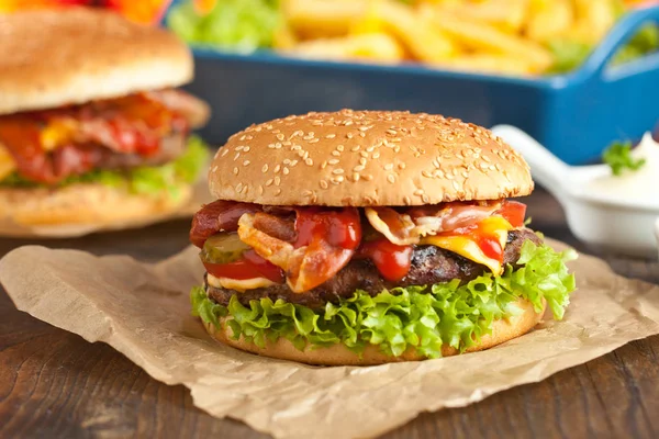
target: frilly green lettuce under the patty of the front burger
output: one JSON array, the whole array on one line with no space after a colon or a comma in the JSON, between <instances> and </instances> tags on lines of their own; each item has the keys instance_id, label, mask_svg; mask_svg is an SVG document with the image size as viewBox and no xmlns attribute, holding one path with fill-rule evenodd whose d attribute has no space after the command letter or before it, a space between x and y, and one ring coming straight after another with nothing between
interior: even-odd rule
<instances>
[{"instance_id":1,"label":"frilly green lettuce under the patty of the front burger","mask_svg":"<svg viewBox=\"0 0 659 439\"><path fill-rule=\"evenodd\" d=\"M518 269L509 266L501 277L483 274L463 285L459 280L426 286L398 288L371 297L356 291L338 304L327 303L320 311L270 299L242 305L232 296L227 306L211 301L204 289L191 292L192 314L220 327L220 317L233 331L257 346L280 337L298 349L343 344L355 352L376 345L389 356L409 348L428 358L442 356L442 346L463 351L491 331L495 319L521 312L518 297L528 300L537 311L543 300L556 319L563 317L569 295L576 289L574 275L566 262L577 257L573 250L556 252L530 240L521 249Z\"/></svg>"}]
</instances>

